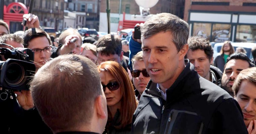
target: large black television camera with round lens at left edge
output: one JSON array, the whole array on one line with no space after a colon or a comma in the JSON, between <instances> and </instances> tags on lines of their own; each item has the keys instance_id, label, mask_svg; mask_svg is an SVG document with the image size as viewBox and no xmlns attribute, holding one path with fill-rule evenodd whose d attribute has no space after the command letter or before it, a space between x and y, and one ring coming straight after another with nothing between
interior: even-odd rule
<instances>
[{"instance_id":1,"label":"large black television camera with round lens at left edge","mask_svg":"<svg viewBox=\"0 0 256 134\"><path fill-rule=\"evenodd\" d=\"M29 90L29 82L35 74L36 68L34 52L29 48L13 48L5 43L0 43L0 99L5 100L13 90ZM6 61L4 61L6 60Z\"/></svg>"}]
</instances>

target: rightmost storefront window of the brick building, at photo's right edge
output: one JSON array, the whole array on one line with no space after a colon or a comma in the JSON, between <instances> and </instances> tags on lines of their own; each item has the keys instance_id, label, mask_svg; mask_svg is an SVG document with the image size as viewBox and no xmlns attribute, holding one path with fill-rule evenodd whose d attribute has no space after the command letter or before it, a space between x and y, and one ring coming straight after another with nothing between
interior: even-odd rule
<instances>
[{"instance_id":1,"label":"rightmost storefront window of the brick building, at photo's right edge","mask_svg":"<svg viewBox=\"0 0 256 134\"><path fill-rule=\"evenodd\" d=\"M237 25L236 42L256 42L256 26Z\"/></svg>"}]
</instances>

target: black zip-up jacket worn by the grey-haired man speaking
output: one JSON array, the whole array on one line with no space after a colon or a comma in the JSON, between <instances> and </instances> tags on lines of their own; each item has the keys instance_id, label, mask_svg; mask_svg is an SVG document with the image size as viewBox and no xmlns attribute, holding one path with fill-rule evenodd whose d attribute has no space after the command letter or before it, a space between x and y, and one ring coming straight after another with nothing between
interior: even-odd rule
<instances>
[{"instance_id":1,"label":"black zip-up jacket worn by the grey-haired man speaking","mask_svg":"<svg viewBox=\"0 0 256 134\"><path fill-rule=\"evenodd\" d=\"M149 82L133 115L134 134L247 134L239 104L187 64L166 90L166 101Z\"/></svg>"}]
</instances>

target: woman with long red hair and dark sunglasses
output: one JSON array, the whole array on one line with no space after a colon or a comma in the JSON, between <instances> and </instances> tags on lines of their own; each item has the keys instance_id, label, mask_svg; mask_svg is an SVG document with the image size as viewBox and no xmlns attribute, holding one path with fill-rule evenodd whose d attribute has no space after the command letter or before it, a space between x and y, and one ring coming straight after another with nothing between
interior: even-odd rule
<instances>
[{"instance_id":1,"label":"woman with long red hair and dark sunglasses","mask_svg":"<svg viewBox=\"0 0 256 134\"><path fill-rule=\"evenodd\" d=\"M108 120L103 134L128 134L137 107L133 86L125 69L115 61L98 66L107 100Z\"/></svg>"}]
</instances>

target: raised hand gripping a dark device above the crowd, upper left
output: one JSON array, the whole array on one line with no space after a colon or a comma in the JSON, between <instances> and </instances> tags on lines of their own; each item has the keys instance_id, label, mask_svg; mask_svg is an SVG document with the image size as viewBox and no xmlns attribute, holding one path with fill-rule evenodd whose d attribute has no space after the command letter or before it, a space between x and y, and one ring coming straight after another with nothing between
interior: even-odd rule
<instances>
[{"instance_id":1,"label":"raised hand gripping a dark device above the crowd, upper left","mask_svg":"<svg viewBox=\"0 0 256 134\"><path fill-rule=\"evenodd\" d=\"M26 27L30 28L40 28L39 19L35 14L23 14L23 18L27 19ZM22 24L24 26L24 24Z\"/></svg>"}]
</instances>

